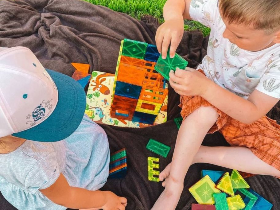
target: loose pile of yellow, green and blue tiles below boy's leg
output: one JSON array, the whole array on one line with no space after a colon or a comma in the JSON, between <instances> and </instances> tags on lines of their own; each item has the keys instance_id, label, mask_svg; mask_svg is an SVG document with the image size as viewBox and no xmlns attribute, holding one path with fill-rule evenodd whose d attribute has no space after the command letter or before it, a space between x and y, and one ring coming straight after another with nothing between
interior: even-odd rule
<instances>
[{"instance_id":1,"label":"loose pile of yellow, green and blue tiles below boy's leg","mask_svg":"<svg viewBox=\"0 0 280 210\"><path fill-rule=\"evenodd\" d=\"M252 189L247 190L250 186L237 170L231 176L228 172L209 170L202 170L201 175L203 178L189 188L198 202L192 204L192 210L270 210L273 206ZM239 194L235 195L237 191ZM244 200L240 194L245 196Z\"/></svg>"}]
</instances>

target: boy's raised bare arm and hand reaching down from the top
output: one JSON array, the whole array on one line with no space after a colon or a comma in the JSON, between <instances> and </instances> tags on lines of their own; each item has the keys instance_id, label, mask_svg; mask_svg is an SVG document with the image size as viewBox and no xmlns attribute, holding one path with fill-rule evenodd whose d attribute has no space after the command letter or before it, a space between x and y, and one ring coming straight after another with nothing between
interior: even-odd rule
<instances>
[{"instance_id":1,"label":"boy's raised bare arm and hand reaching down from the top","mask_svg":"<svg viewBox=\"0 0 280 210\"><path fill-rule=\"evenodd\" d=\"M173 58L175 51L184 33L184 19L191 19L189 7L191 0L167 0L163 7L165 22L157 29L157 49L166 58L170 45L170 57Z\"/></svg>"}]
</instances>

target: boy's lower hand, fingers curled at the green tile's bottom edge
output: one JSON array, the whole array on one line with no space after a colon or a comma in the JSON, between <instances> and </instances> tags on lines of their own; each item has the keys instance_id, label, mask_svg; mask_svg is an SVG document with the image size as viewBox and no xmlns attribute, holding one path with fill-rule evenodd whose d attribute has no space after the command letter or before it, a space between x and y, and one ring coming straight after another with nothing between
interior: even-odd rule
<instances>
[{"instance_id":1,"label":"boy's lower hand, fingers curled at the green tile's bottom edge","mask_svg":"<svg viewBox=\"0 0 280 210\"><path fill-rule=\"evenodd\" d=\"M177 68L175 73L172 70L169 72L169 77L170 85L175 92L188 96L201 96L211 81L201 72L189 67L186 67L185 70Z\"/></svg>"}]
</instances>

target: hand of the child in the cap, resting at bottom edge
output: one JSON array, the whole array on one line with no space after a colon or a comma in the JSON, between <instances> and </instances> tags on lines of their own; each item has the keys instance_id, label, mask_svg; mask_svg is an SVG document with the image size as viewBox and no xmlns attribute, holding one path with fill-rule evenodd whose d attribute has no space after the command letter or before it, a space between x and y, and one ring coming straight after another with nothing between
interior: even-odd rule
<instances>
[{"instance_id":1,"label":"hand of the child in the cap, resting at bottom edge","mask_svg":"<svg viewBox=\"0 0 280 210\"><path fill-rule=\"evenodd\" d=\"M111 191L103 191L105 193L106 203L102 206L103 210L125 210L127 200L119 197Z\"/></svg>"}]
</instances>

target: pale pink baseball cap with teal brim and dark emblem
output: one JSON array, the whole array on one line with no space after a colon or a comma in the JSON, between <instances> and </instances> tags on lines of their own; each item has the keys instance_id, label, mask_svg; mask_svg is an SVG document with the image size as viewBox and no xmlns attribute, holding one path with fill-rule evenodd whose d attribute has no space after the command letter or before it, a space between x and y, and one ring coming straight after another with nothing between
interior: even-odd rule
<instances>
[{"instance_id":1,"label":"pale pink baseball cap with teal brim and dark emblem","mask_svg":"<svg viewBox=\"0 0 280 210\"><path fill-rule=\"evenodd\" d=\"M85 107L84 89L71 77L45 69L28 48L0 48L0 138L60 141L80 125Z\"/></svg>"}]
</instances>

